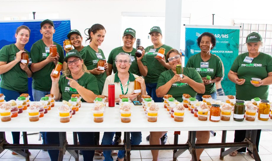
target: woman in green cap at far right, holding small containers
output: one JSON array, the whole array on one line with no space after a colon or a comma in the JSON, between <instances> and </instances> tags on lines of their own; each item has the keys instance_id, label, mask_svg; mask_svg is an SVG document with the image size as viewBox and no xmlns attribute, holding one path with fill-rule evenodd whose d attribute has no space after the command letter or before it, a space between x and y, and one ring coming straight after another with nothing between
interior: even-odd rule
<instances>
[{"instance_id":1,"label":"woman in green cap at far right, holding small containers","mask_svg":"<svg viewBox=\"0 0 272 161\"><path fill-rule=\"evenodd\" d=\"M260 47L263 45L262 36L256 32L247 35L246 45L248 52L236 57L228 74L229 80L235 83L236 99L249 101L259 97L267 100L269 85L272 83L272 57L260 52ZM261 80L255 84L251 78L260 78ZM235 130L234 142L242 142L245 139L245 133L246 130ZM260 134L261 130L257 130L257 151ZM231 152L230 155L235 156L237 152L246 152L246 148ZM252 153L251 157L254 158Z\"/></svg>"}]
</instances>

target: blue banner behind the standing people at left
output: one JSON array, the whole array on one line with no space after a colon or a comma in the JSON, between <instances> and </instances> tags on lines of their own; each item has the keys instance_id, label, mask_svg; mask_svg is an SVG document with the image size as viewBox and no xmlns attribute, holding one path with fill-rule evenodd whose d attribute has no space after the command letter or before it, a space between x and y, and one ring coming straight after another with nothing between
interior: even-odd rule
<instances>
[{"instance_id":1,"label":"blue banner behind the standing people at left","mask_svg":"<svg viewBox=\"0 0 272 161\"><path fill-rule=\"evenodd\" d=\"M37 20L32 21L9 21L9 22L0 22L0 49L9 44L13 44L16 42L15 33L17 27L21 25L27 26L30 30L30 38L29 42L25 45L25 49L30 52L32 44L41 39L43 35L40 32L41 22ZM67 34L71 30L70 20L56 20L54 21L55 26L55 34L53 35L53 41L63 46L64 39L67 39ZM29 95L32 96L32 88L31 88L32 78L28 79L28 92ZM31 97L30 100L33 101Z\"/></svg>"}]
</instances>

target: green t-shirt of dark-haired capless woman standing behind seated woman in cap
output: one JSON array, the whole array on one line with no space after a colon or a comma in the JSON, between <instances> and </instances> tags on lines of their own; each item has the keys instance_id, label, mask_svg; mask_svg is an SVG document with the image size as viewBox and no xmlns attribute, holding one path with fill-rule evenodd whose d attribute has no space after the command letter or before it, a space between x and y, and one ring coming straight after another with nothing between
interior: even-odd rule
<instances>
[{"instance_id":1,"label":"green t-shirt of dark-haired capless woman standing behind seated woman in cap","mask_svg":"<svg viewBox=\"0 0 272 161\"><path fill-rule=\"evenodd\" d=\"M95 68L97 68L97 63L99 59L104 59L106 60L104 53L101 49L98 49L98 53L96 53L91 47L90 45L84 47L81 51L80 51L80 55L84 61L84 64L86 65L88 70L93 70ZM104 87L104 83L105 80L107 78L107 73L104 72L103 74L93 74L96 79L97 79L97 83L98 83L98 88L99 88L99 94L102 94L103 91L103 87Z\"/></svg>"}]
</instances>

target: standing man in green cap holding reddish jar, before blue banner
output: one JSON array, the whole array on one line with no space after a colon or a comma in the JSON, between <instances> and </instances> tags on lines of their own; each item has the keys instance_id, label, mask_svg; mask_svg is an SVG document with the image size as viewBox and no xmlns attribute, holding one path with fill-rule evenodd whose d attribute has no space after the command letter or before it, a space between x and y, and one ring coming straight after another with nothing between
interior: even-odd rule
<instances>
[{"instance_id":1,"label":"standing man in green cap holding reddish jar, before blue banner","mask_svg":"<svg viewBox=\"0 0 272 161\"><path fill-rule=\"evenodd\" d=\"M55 33L54 23L51 20L41 22L42 39L35 42L30 50L32 59L31 70L32 74L32 94L34 101L39 101L41 97L50 94L52 81L50 74L55 68L57 62L63 63L64 52L61 45L53 42L53 34ZM56 45L57 56L52 57L50 46Z\"/></svg>"}]
</instances>

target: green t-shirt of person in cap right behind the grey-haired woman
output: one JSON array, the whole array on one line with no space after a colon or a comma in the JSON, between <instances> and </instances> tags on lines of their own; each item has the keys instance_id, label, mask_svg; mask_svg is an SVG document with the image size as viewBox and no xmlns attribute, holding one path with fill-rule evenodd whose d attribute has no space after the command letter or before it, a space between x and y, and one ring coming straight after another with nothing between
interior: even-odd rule
<instances>
[{"instance_id":1,"label":"green t-shirt of person in cap right behind the grey-haired woman","mask_svg":"<svg viewBox=\"0 0 272 161\"><path fill-rule=\"evenodd\" d=\"M127 53L130 55L130 60L131 60L132 64L130 65L129 72L141 76L140 70L138 67L138 63L137 63L137 57L135 56L135 52L136 52L135 48L133 48L131 52L125 52L122 47L116 47L115 49L111 50L111 52L109 54L109 59L107 62L109 64L112 64L113 73L117 72L117 68L115 65L115 57L116 57L116 55L118 55L121 52ZM143 57L141 59L141 61L144 66L147 66L147 63L145 61L145 57Z\"/></svg>"}]
</instances>

